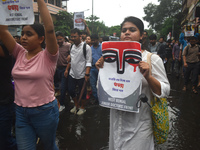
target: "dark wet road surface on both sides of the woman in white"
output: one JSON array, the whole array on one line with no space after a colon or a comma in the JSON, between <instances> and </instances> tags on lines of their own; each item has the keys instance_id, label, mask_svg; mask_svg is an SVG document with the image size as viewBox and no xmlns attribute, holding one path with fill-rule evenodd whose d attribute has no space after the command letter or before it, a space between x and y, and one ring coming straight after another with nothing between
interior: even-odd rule
<instances>
[{"instance_id":1,"label":"dark wet road surface on both sides of the woman in white","mask_svg":"<svg viewBox=\"0 0 200 150\"><path fill-rule=\"evenodd\" d=\"M166 143L156 150L200 150L200 94L182 91L183 79L168 76L170 132ZM200 89L198 89L200 93ZM107 150L109 109L88 104L82 116L63 111L57 131L60 150ZM38 150L42 150L39 144Z\"/></svg>"}]
</instances>

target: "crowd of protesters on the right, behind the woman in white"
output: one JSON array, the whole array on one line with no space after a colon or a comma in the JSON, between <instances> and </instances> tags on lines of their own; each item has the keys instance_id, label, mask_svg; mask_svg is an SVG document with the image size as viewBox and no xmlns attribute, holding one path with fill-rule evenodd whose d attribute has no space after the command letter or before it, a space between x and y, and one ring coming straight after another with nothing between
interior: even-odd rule
<instances>
[{"instance_id":1,"label":"crowd of protesters on the right, behind the woman in white","mask_svg":"<svg viewBox=\"0 0 200 150\"><path fill-rule=\"evenodd\" d=\"M175 75L176 78L184 78L183 91L189 89L189 81L191 80L191 91L198 94L200 88L200 43L197 26L193 36L185 36L185 28L183 26L179 39L168 39L164 41L164 37L160 37L157 42L157 36L152 34L149 36L148 44L145 44L147 50L157 54L163 60L166 73Z\"/></svg>"}]
</instances>

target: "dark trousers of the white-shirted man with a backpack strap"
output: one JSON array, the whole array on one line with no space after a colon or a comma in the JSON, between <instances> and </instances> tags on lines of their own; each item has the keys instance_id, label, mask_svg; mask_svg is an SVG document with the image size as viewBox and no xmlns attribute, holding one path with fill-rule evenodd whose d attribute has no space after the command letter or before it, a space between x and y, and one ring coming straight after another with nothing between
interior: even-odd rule
<instances>
[{"instance_id":1,"label":"dark trousers of the white-shirted man with a backpack strap","mask_svg":"<svg viewBox=\"0 0 200 150\"><path fill-rule=\"evenodd\" d=\"M83 86L83 83L85 81L85 78L81 78L81 79L74 79L72 78L72 76L68 76L69 80L68 80L68 87L69 87L69 95L74 98L77 96L77 94L80 94L81 93L81 89L82 89L82 86ZM78 89L79 89L79 93L76 93L75 90L76 90L76 86L78 85ZM86 88L83 92L83 95L82 95L82 99L86 99Z\"/></svg>"}]
</instances>

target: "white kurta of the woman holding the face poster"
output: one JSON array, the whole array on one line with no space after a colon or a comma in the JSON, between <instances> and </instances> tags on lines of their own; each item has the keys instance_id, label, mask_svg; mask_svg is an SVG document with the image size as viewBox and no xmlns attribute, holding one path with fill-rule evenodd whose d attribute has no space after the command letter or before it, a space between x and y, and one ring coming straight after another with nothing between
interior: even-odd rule
<instances>
[{"instance_id":1,"label":"white kurta of the woman holding the face poster","mask_svg":"<svg viewBox=\"0 0 200 150\"><path fill-rule=\"evenodd\" d=\"M147 51L142 53L142 60L147 62ZM163 61L158 55L151 56L152 76L161 84L161 95L167 97L170 84L166 76ZM150 88L146 79L142 79L142 93L150 103ZM139 113L110 109L109 150L154 150L151 110L142 103Z\"/></svg>"}]
</instances>

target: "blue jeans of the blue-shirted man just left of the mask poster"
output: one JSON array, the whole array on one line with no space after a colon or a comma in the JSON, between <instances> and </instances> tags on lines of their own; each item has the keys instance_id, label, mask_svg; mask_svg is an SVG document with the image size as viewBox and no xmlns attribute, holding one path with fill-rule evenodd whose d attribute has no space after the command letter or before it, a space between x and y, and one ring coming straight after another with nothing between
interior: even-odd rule
<instances>
[{"instance_id":1,"label":"blue jeans of the blue-shirted man just left of the mask poster","mask_svg":"<svg viewBox=\"0 0 200 150\"><path fill-rule=\"evenodd\" d=\"M96 67L92 67L90 69L90 86L92 88L92 95L94 96L94 98L96 100L98 100L98 97L97 97L97 77L98 77L98 69Z\"/></svg>"}]
</instances>

